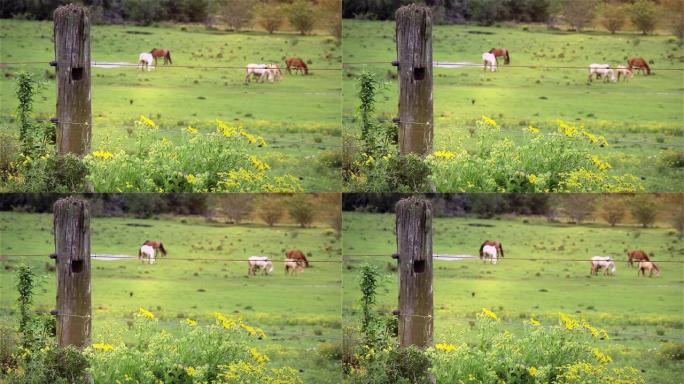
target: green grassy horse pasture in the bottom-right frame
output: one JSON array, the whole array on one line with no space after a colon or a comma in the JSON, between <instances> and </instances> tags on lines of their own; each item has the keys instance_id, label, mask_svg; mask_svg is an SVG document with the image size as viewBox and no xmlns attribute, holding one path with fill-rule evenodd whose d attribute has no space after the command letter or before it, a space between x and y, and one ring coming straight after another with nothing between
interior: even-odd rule
<instances>
[{"instance_id":1,"label":"green grassy horse pasture in the bottom-right frame","mask_svg":"<svg viewBox=\"0 0 684 384\"><path fill-rule=\"evenodd\" d=\"M362 263L385 271L388 282L379 290L379 309L397 308L399 284L389 269L396 263L390 258L396 252L394 220L393 214L345 212L345 326L357 325L360 319L358 267ZM684 264L665 262L684 261L684 245L674 230L666 224L649 229L550 224L539 217L433 220L435 254L477 255L480 243L492 238L504 245L505 257L497 265L479 259L434 261L435 342L468 332L468 322L483 307L494 310L504 328L514 333L531 317L541 319L545 326L557 324L558 313L564 312L608 331L610 339L596 343L608 351L616 366L641 369L648 383L680 382L684 364L657 359L665 343L684 342ZM627 249L647 250L660 262L662 275L637 277L636 269L626 262ZM617 274L590 276L588 260L595 255L612 255Z\"/></svg>"}]
</instances>

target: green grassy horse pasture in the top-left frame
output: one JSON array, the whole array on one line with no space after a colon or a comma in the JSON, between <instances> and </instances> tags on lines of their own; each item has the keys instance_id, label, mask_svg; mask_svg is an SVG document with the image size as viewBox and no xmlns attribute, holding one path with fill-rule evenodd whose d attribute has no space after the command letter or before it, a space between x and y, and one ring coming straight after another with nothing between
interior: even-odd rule
<instances>
[{"instance_id":1,"label":"green grassy horse pasture in the top-left frame","mask_svg":"<svg viewBox=\"0 0 684 384\"><path fill-rule=\"evenodd\" d=\"M34 112L39 118L55 114L56 84L52 23L0 20L0 62L42 64L0 66L0 126L15 131L13 115L15 74L25 70L45 80ZM162 125L170 140L181 139L181 129L192 124L213 129L213 122L243 122L270 145L255 153L275 174L298 176L307 191L340 190L339 170L326 167L321 155L339 152L341 47L332 37L268 35L259 32L207 30L202 25L92 26L91 58L94 62L135 64L141 52L153 47L171 50L175 66L141 72L135 67L92 69L93 149L103 143L133 145L133 121L140 115ZM302 57L310 76L289 76L274 84L244 84L249 63L274 62ZM183 68L224 66L231 68ZM332 70L331 70L332 69Z\"/></svg>"}]
</instances>

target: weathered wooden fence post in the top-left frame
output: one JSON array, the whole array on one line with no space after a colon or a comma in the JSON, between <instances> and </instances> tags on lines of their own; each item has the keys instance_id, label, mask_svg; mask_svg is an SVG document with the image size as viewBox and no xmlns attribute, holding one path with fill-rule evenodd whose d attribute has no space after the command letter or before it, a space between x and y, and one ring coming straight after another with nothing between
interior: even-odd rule
<instances>
[{"instance_id":1,"label":"weathered wooden fence post in the top-left frame","mask_svg":"<svg viewBox=\"0 0 684 384\"><path fill-rule=\"evenodd\" d=\"M54 13L57 67L57 153L83 156L92 137L90 19L86 7L69 4Z\"/></svg>"}]
</instances>

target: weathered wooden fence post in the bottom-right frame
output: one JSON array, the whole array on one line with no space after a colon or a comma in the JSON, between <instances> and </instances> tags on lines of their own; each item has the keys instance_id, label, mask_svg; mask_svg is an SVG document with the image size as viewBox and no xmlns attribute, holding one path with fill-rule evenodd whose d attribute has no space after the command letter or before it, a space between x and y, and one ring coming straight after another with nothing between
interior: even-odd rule
<instances>
[{"instance_id":1,"label":"weathered wooden fence post in the bottom-right frame","mask_svg":"<svg viewBox=\"0 0 684 384\"><path fill-rule=\"evenodd\" d=\"M399 344L428 347L433 335L432 203L410 197L397 203Z\"/></svg>"}]
</instances>

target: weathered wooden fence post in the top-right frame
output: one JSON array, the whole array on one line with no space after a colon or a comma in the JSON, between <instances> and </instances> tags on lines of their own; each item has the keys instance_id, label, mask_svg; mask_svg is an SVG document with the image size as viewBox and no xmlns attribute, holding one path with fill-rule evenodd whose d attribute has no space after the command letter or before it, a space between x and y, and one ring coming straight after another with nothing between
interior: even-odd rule
<instances>
[{"instance_id":1,"label":"weathered wooden fence post in the top-right frame","mask_svg":"<svg viewBox=\"0 0 684 384\"><path fill-rule=\"evenodd\" d=\"M432 12L411 4L396 12L399 152L432 152Z\"/></svg>"}]
</instances>

